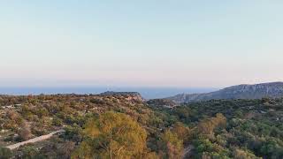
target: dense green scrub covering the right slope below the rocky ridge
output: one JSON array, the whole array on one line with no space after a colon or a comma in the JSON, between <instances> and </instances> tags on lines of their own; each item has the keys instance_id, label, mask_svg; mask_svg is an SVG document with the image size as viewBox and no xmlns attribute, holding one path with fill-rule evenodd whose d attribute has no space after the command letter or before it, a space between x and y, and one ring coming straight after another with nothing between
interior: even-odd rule
<instances>
[{"instance_id":1,"label":"dense green scrub covering the right slope below the rocky ridge","mask_svg":"<svg viewBox=\"0 0 283 159\"><path fill-rule=\"evenodd\" d=\"M195 158L283 158L282 99L217 100L154 110L198 129L188 141Z\"/></svg>"}]
</instances>

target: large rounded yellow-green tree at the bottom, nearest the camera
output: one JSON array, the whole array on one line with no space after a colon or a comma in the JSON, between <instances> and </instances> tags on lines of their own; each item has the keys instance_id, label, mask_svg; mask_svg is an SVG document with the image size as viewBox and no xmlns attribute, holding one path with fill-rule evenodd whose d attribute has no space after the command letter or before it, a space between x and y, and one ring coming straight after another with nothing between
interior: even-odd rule
<instances>
[{"instance_id":1,"label":"large rounded yellow-green tree at the bottom, nearest the camera","mask_svg":"<svg viewBox=\"0 0 283 159\"><path fill-rule=\"evenodd\" d=\"M146 131L122 113L110 111L88 120L84 135L73 158L141 158L147 150Z\"/></svg>"}]
</instances>

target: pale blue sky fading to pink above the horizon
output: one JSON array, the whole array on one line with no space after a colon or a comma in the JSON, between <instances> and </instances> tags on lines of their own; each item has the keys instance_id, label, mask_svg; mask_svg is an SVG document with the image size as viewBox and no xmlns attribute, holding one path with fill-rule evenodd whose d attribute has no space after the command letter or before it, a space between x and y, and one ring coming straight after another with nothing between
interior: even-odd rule
<instances>
[{"instance_id":1,"label":"pale blue sky fading to pink above the horizon","mask_svg":"<svg viewBox=\"0 0 283 159\"><path fill-rule=\"evenodd\" d=\"M281 0L2 0L0 87L283 80Z\"/></svg>"}]
</instances>

